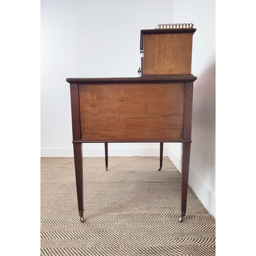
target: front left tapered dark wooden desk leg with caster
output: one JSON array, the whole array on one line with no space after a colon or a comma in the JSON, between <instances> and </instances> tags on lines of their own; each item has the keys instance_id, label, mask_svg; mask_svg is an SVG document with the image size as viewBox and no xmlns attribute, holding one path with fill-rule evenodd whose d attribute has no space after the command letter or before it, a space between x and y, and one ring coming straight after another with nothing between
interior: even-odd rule
<instances>
[{"instance_id":1,"label":"front left tapered dark wooden desk leg with caster","mask_svg":"<svg viewBox=\"0 0 256 256\"><path fill-rule=\"evenodd\" d=\"M73 146L74 146L74 159L75 159L78 212L80 216L80 221L83 222L82 143L73 143Z\"/></svg>"}]
</instances>

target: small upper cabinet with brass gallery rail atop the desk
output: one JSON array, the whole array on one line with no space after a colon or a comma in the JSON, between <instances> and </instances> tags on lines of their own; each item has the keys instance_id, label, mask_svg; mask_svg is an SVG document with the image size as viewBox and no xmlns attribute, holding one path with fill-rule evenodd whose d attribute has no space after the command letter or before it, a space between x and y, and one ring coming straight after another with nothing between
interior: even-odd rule
<instances>
[{"instance_id":1,"label":"small upper cabinet with brass gallery rail atop the desk","mask_svg":"<svg viewBox=\"0 0 256 256\"><path fill-rule=\"evenodd\" d=\"M158 25L141 30L142 74L191 74L193 24Z\"/></svg>"}]
</instances>

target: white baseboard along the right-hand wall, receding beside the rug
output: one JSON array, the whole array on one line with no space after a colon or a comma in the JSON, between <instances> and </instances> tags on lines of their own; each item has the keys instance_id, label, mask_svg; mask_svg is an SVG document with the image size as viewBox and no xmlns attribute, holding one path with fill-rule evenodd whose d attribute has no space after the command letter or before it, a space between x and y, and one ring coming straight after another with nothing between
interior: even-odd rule
<instances>
[{"instance_id":1,"label":"white baseboard along the right-hand wall, receding beside the rug","mask_svg":"<svg viewBox=\"0 0 256 256\"><path fill-rule=\"evenodd\" d=\"M177 169L181 172L181 158L178 157L172 150L169 148L168 152L169 159L174 163ZM212 214L214 217L216 215L216 198L214 193L210 188L189 168L188 184L194 190L195 194L199 200L203 203L205 208Z\"/></svg>"}]
</instances>

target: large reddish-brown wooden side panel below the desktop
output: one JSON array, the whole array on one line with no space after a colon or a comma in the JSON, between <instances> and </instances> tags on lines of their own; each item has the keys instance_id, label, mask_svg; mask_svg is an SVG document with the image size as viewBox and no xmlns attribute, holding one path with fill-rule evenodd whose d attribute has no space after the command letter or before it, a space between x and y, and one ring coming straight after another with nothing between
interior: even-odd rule
<instances>
[{"instance_id":1,"label":"large reddish-brown wooden side panel below the desktop","mask_svg":"<svg viewBox=\"0 0 256 256\"><path fill-rule=\"evenodd\" d=\"M184 82L79 84L83 140L182 139Z\"/></svg>"}]
</instances>

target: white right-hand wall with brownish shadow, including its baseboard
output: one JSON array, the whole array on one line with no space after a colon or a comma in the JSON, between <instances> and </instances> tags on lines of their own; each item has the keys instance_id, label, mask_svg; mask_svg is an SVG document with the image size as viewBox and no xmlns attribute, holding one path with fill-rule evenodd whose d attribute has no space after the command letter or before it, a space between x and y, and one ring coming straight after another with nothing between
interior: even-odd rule
<instances>
[{"instance_id":1,"label":"white right-hand wall with brownish shadow, including its baseboard","mask_svg":"<svg viewBox=\"0 0 256 256\"><path fill-rule=\"evenodd\" d=\"M174 23L193 23L194 82L189 185L215 216L215 1L176 0ZM170 143L169 158L181 170L181 144Z\"/></svg>"}]
</instances>

